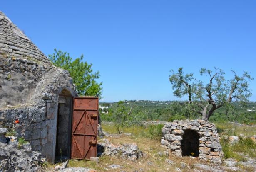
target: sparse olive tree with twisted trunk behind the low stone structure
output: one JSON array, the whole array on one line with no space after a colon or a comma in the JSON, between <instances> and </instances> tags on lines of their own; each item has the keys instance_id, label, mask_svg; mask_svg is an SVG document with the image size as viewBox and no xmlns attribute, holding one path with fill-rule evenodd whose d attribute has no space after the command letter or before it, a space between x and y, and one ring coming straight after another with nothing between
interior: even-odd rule
<instances>
[{"instance_id":1,"label":"sparse olive tree with twisted trunk behind the low stone structure","mask_svg":"<svg viewBox=\"0 0 256 172\"><path fill-rule=\"evenodd\" d=\"M175 73L171 70L169 80L176 97L188 96L192 111L208 120L216 109L229 107L230 102L240 101L246 103L251 96L249 81L253 80L248 72L237 75L234 70L233 78L226 80L225 72L219 68L215 71L201 68L200 75L206 76L208 82L197 80L193 73L184 74L183 68Z\"/></svg>"}]
</instances>

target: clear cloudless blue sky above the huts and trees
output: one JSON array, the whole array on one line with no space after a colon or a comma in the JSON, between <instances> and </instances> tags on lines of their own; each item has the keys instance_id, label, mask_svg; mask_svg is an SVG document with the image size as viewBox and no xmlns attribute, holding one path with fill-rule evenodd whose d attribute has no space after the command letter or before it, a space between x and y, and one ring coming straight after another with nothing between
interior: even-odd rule
<instances>
[{"instance_id":1,"label":"clear cloudless blue sky above the huts and trees","mask_svg":"<svg viewBox=\"0 0 256 172\"><path fill-rule=\"evenodd\" d=\"M2 0L4 12L49 55L85 55L104 102L175 100L169 70L201 67L256 78L254 0ZM256 79L251 82L256 101Z\"/></svg>"}]
</instances>

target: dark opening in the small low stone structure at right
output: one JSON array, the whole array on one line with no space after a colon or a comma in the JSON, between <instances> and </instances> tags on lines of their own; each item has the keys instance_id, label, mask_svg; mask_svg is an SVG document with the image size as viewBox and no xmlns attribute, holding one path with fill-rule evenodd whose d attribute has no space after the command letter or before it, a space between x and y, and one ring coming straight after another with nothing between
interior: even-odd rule
<instances>
[{"instance_id":1,"label":"dark opening in the small low stone structure at right","mask_svg":"<svg viewBox=\"0 0 256 172\"><path fill-rule=\"evenodd\" d=\"M199 156L199 134L194 130L185 130L181 141L182 156Z\"/></svg>"}]
</instances>

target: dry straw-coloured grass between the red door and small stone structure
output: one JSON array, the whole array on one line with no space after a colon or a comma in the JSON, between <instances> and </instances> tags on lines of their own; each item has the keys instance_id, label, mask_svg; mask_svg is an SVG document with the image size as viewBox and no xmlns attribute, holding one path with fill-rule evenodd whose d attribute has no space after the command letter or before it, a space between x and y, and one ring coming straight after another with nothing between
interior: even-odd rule
<instances>
[{"instance_id":1,"label":"dry straw-coloured grass between the red door and small stone structure","mask_svg":"<svg viewBox=\"0 0 256 172\"><path fill-rule=\"evenodd\" d=\"M158 140L150 139L150 138L143 138L137 136L120 136L114 138L108 138L110 142L115 145L122 145L124 143L136 143L140 150L147 154L146 157L141 158L135 162L130 160L124 160L118 157L110 157L110 156L102 156L100 157L100 163L97 164L95 162L90 162L86 160L70 160L68 167L88 167L93 168L99 172L101 171L108 171L108 172L117 172L124 170L126 172L134 172L143 171L147 172L171 172L175 171L175 169L181 168L181 162L186 163L190 167L193 167L194 163L207 163L199 161L197 158L191 159L190 157L176 157L169 153L169 157L160 157L157 153L165 151ZM100 141L100 140L99 140ZM169 165L165 160L173 160L174 164ZM109 165L121 165L122 169L109 169L107 170ZM182 169L182 168L181 168ZM188 172L189 168L185 167L182 169L183 172Z\"/></svg>"}]
</instances>

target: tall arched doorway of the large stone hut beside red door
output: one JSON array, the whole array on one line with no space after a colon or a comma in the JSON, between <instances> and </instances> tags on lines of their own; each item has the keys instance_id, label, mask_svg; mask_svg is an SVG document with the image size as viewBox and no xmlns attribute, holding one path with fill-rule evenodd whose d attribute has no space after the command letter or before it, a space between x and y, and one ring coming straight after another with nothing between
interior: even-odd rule
<instances>
[{"instance_id":1,"label":"tall arched doorway of the large stone hut beside red door","mask_svg":"<svg viewBox=\"0 0 256 172\"><path fill-rule=\"evenodd\" d=\"M58 101L55 162L70 159L72 101L73 97L70 92L63 89Z\"/></svg>"}]
</instances>

